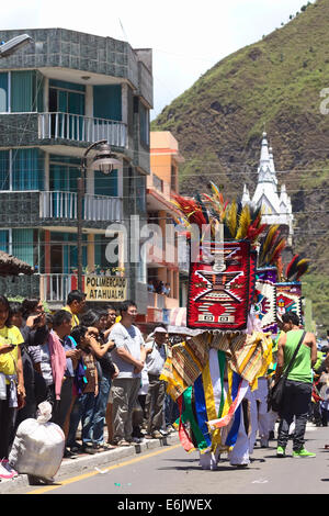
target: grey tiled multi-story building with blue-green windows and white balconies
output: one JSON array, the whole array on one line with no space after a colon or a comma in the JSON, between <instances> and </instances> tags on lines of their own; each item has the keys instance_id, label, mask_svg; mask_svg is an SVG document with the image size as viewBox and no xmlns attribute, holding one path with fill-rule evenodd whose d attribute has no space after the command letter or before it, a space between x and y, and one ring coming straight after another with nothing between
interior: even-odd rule
<instances>
[{"instance_id":1,"label":"grey tiled multi-story building with blue-green windows and white balconies","mask_svg":"<svg viewBox=\"0 0 329 516\"><path fill-rule=\"evenodd\" d=\"M22 32L1 31L0 38ZM106 139L120 166L104 176L89 160L83 271L124 276L124 296L138 300L146 313L146 265L132 262L129 246L126 262L118 254L110 263L105 233L115 222L125 223L129 235L132 215L146 220L151 51L65 29L26 32L33 42L0 59L0 248L37 273L2 282L2 289L9 295L41 295L55 307L77 287L81 158L92 143ZM112 293L115 301L115 287Z\"/></svg>"}]
</instances>

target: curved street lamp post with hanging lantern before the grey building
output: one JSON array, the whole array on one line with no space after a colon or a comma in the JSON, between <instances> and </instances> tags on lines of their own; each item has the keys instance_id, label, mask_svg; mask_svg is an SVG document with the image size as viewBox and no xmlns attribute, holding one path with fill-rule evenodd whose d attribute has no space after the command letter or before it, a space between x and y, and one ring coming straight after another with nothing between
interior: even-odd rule
<instances>
[{"instance_id":1,"label":"curved street lamp post with hanging lantern before the grey building","mask_svg":"<svg viewBox=\"0 0 329 516\"><path fill-rule=\"evenodd\" d=\"M106 139L101 139L91 144L81 158L81 175L78 179L78 197L77 197L77 244L78 244L78 289L82 292L82 220L83 220L83 194L84 182L87 177L87 156L93 148L99 147L98 154L93 158L91 168L99 170L105 175L111 173L112 170L121 165L111 153L111 147Z\"/></svg>"}]
</instances>

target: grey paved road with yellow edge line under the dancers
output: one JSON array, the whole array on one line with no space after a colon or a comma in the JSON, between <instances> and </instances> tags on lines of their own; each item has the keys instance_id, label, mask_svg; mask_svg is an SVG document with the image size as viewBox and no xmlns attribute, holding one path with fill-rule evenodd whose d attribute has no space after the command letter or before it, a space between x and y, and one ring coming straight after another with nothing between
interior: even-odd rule
<instances>
[{"instance_id":1,"label":"grey paved road with yellow edge line under the dancers","mask_svg":"<svg viewBox=\"0 0 329 516\"><path fill-rule=\"evenodd\" d=\"M329 492L329 427L308 425L306 448L314 459L277 459L276 442L254 448L248 469L232 468L223 456L217 471L203 471L198 453L181 445L147 450L86 473L61 478L57 485L25 487L29 494L324 494ZM290 441L287 455L292 452Z\"/></svg>"}]
</instances>

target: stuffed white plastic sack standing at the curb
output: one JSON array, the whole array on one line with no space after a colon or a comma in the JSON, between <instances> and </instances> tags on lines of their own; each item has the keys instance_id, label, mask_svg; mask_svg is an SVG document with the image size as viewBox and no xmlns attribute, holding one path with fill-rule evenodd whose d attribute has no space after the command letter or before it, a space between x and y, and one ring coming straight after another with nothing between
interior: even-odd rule
<instances>
[{"instance_id":1,"label":"stuffed white plastic sack standing at the curb","mask_svg":"<svg viewBox=\"0 0 329 516\"><path fill-rule=\"evenodd\" d=\"M53 481L60 468L65 435L60 426L48 423L52 405L38 405L37 418L23 420L16 431L9 463L19 472Z\"/></svg>"}]
</instances>

